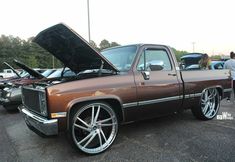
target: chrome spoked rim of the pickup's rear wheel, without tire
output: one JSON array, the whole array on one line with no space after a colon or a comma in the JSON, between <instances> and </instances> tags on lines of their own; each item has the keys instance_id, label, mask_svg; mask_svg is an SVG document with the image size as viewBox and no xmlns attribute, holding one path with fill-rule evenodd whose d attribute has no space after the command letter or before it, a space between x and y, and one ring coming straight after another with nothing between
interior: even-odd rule
<instances>
[{"instance_id":1,"label":"chrome spoked rim of the pickup's rear wheel, without tire","mask_svg":"<svg viewBox=\"0 0 235 162\"><path fill-rule=\"evenodd\" d=\"M210 88L204 90L201 99L201 108L203 115L211 119L213 118L219 110L219 94L217 89Z\"/></svg>"}]
</instances>

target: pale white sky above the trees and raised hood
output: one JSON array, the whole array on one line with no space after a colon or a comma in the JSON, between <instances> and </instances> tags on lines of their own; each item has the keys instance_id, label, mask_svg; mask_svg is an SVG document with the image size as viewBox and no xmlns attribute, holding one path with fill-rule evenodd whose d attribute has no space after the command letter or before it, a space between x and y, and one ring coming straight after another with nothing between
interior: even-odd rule
<instances>
[{"instance_id":1,"label":"pale white sky above the trees and raised hood","mask_svg":"<svg viewBox=\"0 0 235 162\"><path fill-rule=\"evenodd\" d=\"M89 0L91 40L235 51L234 0ZM0 0L0 35L27 39L63 22L88 40L87 0Z\"/></svg>"}]
</instances>

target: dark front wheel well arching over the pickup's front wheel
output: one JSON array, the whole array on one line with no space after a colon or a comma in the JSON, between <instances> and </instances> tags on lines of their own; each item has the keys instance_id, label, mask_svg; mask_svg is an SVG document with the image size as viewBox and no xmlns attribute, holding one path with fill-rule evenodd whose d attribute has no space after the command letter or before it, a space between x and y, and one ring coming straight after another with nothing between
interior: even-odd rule
<instances>
[{"instance_id":1,"label":"dark front wheel well arching over the pickup's front wheel","mask_svg":"<svg viewBox=\"0 0 235 162\"><path fill-rule=\"evenodd\" d=\"M120 102L116 99L100 99L100 100L91 100L91 101L83 101L83 102L76 103L69 109L68 118L70 118L69 117L70 114L73 113L76 110L76 108L82 107L82 106L84 106L88 103L91 103L91 102L106 102L106 103L108 103L113 108L115 113L117 114L118 121L119 122L123 121L122 107L121 107Z\"/></svg>"}]
</instances>

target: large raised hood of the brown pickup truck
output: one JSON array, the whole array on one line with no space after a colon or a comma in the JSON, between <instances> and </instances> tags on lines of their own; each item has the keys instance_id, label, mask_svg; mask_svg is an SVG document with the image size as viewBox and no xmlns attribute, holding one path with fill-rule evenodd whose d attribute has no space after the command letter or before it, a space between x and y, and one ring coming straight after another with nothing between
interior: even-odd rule
<instances>
[{"instance_id":1,"label":"large raised hood of the brown pickup truck","mask_svg":"<svg viewBox=\"0 0 235 162\"><path fill-rule=\"evenodd\" d=\"M40 32L33 40L57 59L78 73L88 69L118 71L104 56L65 24L57 24Z\"/></svg>"}]
</instances>

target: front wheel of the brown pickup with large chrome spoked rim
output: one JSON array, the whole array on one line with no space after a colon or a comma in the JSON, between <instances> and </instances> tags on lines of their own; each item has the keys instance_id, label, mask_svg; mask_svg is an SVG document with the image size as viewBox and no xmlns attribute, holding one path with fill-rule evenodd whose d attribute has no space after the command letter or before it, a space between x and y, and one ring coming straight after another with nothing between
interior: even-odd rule
<instances>
[{"instance_id":1,"label":"front wheel of the brown pickup with large chrome spoked rim","mask_svg":"<svg viewBox=\"0 0 235 162\"><path fill-rule=\"evenodd\" d=\"M116 114L103 103L82 107L73 119L73 140L81 151L88 154L106 150L114 141L117 131Z\"/></svg>"}]
</instances>

